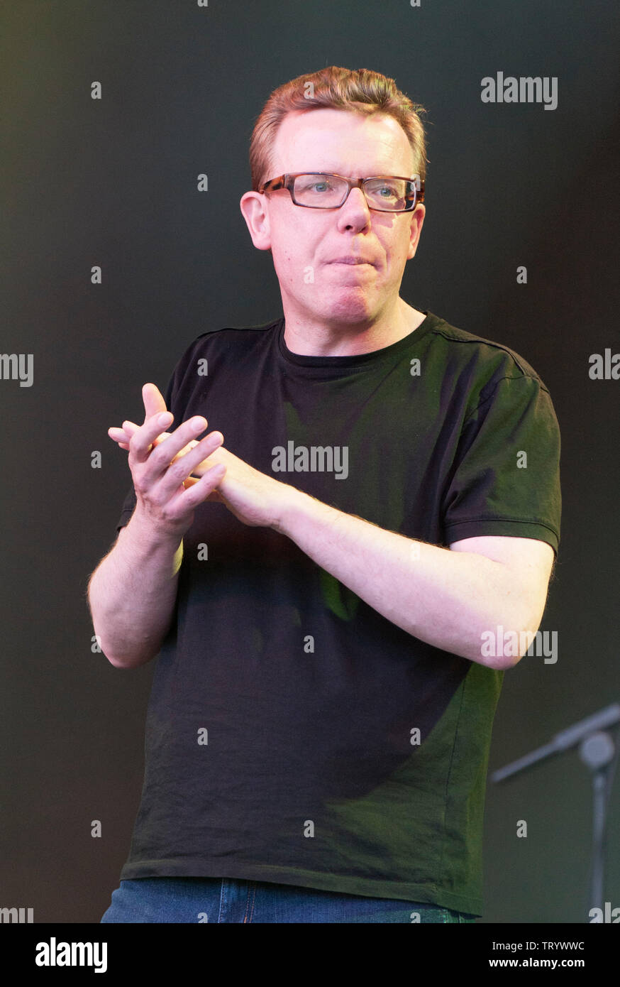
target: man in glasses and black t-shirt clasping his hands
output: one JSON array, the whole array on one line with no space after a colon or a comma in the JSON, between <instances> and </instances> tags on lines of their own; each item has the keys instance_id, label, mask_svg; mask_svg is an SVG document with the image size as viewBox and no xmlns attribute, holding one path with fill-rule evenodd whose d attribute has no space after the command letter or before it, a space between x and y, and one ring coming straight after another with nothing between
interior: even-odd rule
<instances>
[{"instance_id":1,"label":"man in glasses and black t-shirt clasping his hands","mask_svg":"<svg viewBox=\"0 0 620 987\"><path fill-rule=\"evenodd\" d=\"M473 921L491 727L527 647L483 643L542 618L557 419L517 353L399 296L425 144L392 80L280 87L250 163L284 319L202 334L165 396L145 385L144 423L109 429L132 488L94 627L117 667L159 658L103 922Z\"/></svg>"}]
</instances>

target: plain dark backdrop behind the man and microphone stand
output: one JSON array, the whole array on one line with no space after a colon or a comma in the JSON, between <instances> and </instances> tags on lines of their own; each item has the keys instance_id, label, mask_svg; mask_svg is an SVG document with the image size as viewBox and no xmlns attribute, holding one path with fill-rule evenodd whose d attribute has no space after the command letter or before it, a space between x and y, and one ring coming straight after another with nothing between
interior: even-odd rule
<instances>
[{"instance_id":1,"label":"plain dark backdrop behind the man and microphone stand","mask_svg":"<svg viewBox=\"0 0 620 987\"><path fill-rule=\"evenodd\" d=\"M21 0L0 29L0 348L34 354L32 387L0 380L0 906L96 923L118 885L153 665L124 672L91 650L87 580L130 482L106 429L143 420L142 385L164 390L199 333L281 314L239 208L249 138L274 88L326 65L382 72L428 111L427 216L402 296L516 349L560 421L562 541L541 625L559 658L506 674L491 770L618 701L620 381L588 377L590 353L620 351L614 5ZM498 71L557 76L558 108L483 104ZM612 907L619 804L617 780ZM479 921L587 921L590 821L576 751L489 784Z\"/></svg>"}]
</instances>

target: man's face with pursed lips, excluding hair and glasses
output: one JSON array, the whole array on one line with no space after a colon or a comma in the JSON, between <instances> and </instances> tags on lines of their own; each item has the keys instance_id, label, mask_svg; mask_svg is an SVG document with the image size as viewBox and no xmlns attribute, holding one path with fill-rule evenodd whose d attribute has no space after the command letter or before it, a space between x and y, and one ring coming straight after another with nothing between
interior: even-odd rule
<instances>
[{"instance_id":1,"label":"man's face with pursed lips, excluding hair and glasses","mask_svg":"<svg viewBox=\"0 0 620 987\"><path fill-rule=\"evenodd\" d=\"M415 174L407 136L391 116L321 109L288 114L276 135L268 178L330 172L346 178ZM288 190L258 196L250 223L254 245L271 250L287 313L302 320L355 325L395 304L407 260L414 257L424 205L413 212L370 209L352 189L339 209L295 205ZM252 229L253 227L253 229ZM334 263L361 258L365 264Z\"/></svg>"}]
</instances>

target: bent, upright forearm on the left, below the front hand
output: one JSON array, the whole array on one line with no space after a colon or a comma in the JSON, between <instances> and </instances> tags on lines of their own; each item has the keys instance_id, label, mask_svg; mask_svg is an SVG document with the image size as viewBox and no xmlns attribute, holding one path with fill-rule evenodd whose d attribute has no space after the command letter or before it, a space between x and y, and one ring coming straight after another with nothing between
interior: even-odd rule
<instances>
[{"instance_id":1,"label":"bent, upright forearm on the left, below the front hand","mask_svg":"<svg viewBox=\"0 0 620 987\"><path fill-rule=\"evenodd\" d=\"M118 668L145 664L170 628L182 559L179 537L156 539L135 513L93 572L88 601L103 653Z\"/></svg>"}]
</instances>

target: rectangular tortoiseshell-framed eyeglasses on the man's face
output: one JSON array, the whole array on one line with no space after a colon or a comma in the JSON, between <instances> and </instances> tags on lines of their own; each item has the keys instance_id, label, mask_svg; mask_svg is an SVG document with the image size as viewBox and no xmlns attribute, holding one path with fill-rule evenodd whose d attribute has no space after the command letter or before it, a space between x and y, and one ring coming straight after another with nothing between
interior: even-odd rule
<instances>
[{"instance_id":1,"label":"rectangular tortoiseshell-framed eyeglasses on the man's face","mask_svg":"<svg viewBox=\"0 0 620 987\"><path fill-rule=\"evenodd\" d=\"M327 172L295 172L270 179L258 191L278 189L288 189L295 205L309 209L339 209L352 189L361 189L369 208L379 212L411 212L424 201L424 182L419 175L411 179L393 175L346 179Z\"/></svg>"}]
</instances>

